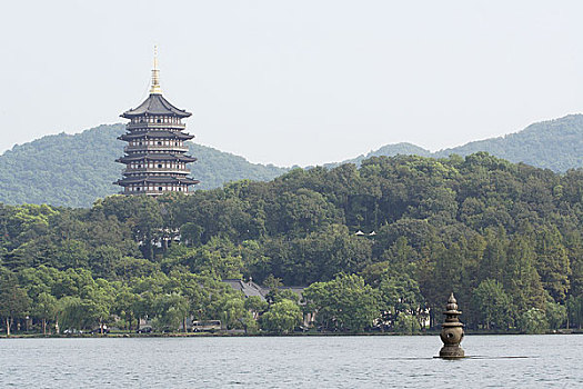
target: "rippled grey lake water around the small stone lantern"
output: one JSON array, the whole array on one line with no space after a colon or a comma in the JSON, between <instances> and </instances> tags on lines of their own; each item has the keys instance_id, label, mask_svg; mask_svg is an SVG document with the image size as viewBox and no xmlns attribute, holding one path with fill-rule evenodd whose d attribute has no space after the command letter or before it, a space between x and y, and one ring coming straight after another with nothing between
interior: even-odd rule
<instances>
[{"instance_id":1,"label":"rippled grey lake water around the small stone lantern","mask_svg":"<svg viewBox=\"0 0 583 389\"><path fill-rule=\"evenodd\" d=\"M583 336L2 339L0 388L583 388ZM527 357L527 358L500 358Z\"/></svg>"}]
</instances>

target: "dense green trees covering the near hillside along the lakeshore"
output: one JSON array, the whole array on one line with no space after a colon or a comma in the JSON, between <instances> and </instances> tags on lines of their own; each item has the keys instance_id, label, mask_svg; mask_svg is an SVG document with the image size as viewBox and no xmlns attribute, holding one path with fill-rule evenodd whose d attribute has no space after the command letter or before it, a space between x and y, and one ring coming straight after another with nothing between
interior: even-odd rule
<instances>
[{"instance_id":1,"label":"dense green trees covering the near hillside along the lakeshore","mask_svg":"<svg viewBox=\"0 0 583 389\"><path fill-rule=\"evenodd\" d=\"M302 309L324 330L413 332L438 325L454 291L471 329L583 325L583 170L483 152L375 157L91 209L3 206L0 228L0 317L16 323L148 316L175 329L193 316L287 332ZM268 303L219 282L240 277L272 287ZM280 281L309 286L305 305Z\"/></svg>"}]
</instances>

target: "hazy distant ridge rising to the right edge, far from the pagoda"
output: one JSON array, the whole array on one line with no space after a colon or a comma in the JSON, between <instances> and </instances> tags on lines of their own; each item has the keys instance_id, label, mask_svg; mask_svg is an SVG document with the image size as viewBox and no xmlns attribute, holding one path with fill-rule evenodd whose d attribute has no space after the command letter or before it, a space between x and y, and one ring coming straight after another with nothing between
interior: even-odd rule
<instances>
[{"instance_id":1,"label":"hazy distant ridge rising to the right edge, far from the pagoda","mask_svg":"<svg viewBox=\"0 0 583 389\"><path fill-rule=\"evenodd\" d=\"M415 154L441 158L454 153L465 157L478 151L486 151L512 162L524 162L556 172L581 168L583 167L583 114L570 114L537 122L505 137L474 141L433 153L411 143L386 144L342 163L360 163L366 158L379 156ZM328 167L338 164L330 163Z\"/></svg>"}]
</instances>

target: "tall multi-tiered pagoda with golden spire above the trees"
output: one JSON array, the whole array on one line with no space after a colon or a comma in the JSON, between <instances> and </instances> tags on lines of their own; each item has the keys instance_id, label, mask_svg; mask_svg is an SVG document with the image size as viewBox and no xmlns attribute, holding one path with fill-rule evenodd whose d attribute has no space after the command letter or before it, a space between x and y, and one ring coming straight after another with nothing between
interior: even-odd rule
<instances>
[{"instance_id":1,"label":"tall multi-tiered pagoda with golden spire above the trees","mask_svg":"<svg viewBox=\"0 0 583 389\"><path fill-rule=\"evenodd\" d=\"M127 133L118 139L127 141L125 154L117 162L125 164L123 178L113 182L123 187L123 194L159 196L168 192L188 192L199 181L188 177L187 163L197 159L188 156L184 141L194 138L183 132L182 119L192 113L172 106L162 97L158 56L154 50L150 96L134 109L121 114L129 119Z\"/></svg>"}]
</instances>

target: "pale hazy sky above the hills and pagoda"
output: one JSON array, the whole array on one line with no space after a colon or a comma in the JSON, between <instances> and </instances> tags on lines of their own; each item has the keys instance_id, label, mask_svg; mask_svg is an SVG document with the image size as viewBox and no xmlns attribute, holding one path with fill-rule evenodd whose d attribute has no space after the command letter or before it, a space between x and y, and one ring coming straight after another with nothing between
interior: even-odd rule
<instances>
[{"instance_id":1,"label":"pale hazy sky above the hills and pagoda","mask_svg":"<svg viewBox=\"0 0 583 389\"><path fill-rule=\"evenodd\" d=\"M431 150L583 107L581 1L10 1L0 151L123 121L159 44L195 141L253 162Z\"/></svg>"}]
</instances>

